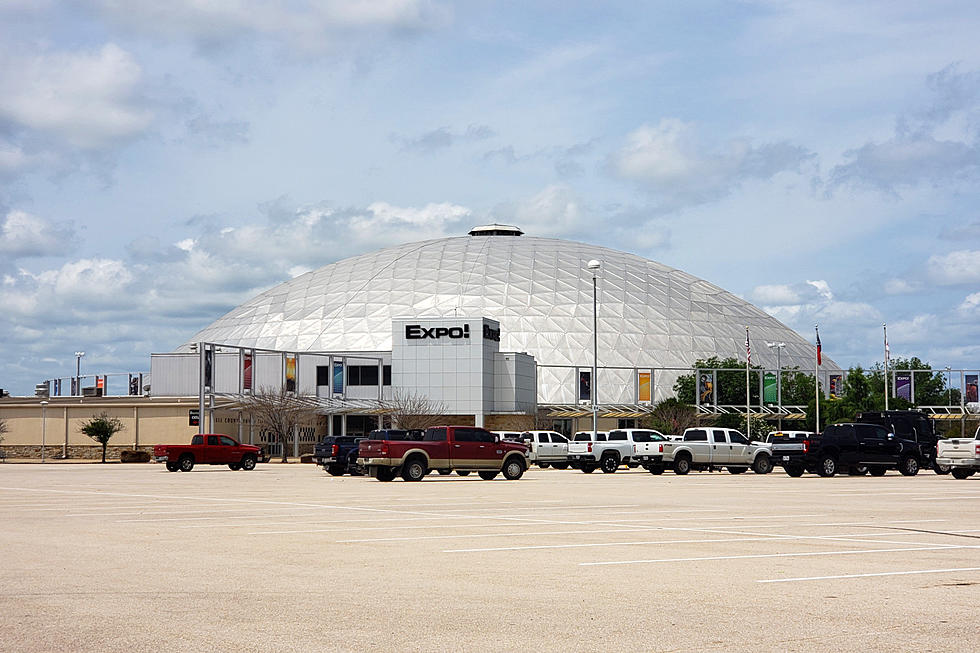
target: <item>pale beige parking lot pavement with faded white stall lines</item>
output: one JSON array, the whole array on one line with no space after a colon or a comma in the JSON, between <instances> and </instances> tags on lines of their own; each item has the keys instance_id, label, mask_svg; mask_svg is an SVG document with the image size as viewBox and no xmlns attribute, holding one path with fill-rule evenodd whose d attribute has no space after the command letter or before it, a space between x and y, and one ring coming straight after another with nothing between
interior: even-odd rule
<instances>
[{"instance_id":1,"label":"pale beige parking lot pavement with faded white stall lines","mask_svg":"<svg viewBox=\"0 0 980 653\"><path fill-rule=\"evenodd\" d=\"M980 648L980 478L0 466L0 645Z\"/></svg>"}]
</instances>

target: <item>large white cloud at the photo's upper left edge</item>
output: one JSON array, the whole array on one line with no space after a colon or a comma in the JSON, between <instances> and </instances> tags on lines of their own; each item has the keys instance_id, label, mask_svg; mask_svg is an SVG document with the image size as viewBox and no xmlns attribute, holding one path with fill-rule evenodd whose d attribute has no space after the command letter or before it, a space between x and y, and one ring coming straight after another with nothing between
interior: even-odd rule
<instances>
[{"instance_id":1,"label":"large white cloud at the photo's upper left edge","mask_svg":"<svg viewBox=\"0 0 980 653\"><path fill-rule=\"evenodd\" d=\"M7 55L0 63L0 117L73 147L101 148L141 133L142 71L112 43L95 52Z\"/></svg>"}]
</instances>

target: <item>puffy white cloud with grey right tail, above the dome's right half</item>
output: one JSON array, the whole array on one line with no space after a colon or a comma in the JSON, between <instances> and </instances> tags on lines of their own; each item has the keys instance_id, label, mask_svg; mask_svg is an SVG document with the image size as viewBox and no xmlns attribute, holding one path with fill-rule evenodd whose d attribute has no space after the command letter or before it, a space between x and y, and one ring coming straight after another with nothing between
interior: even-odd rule
<instances>
[{"instance_id":1,"label":"puffy white cloud with grey right tail, above the dome's right half","mask_svg":"<svg viewBox=\"0 0 980 653\"><path fill-rule=\"evenodd\" d=\"M643 125L609 159L618 176L677 203L718 199L750 179L799 171L812 155L786 142L753 146L733 139L717 150L698 142L694 125L665 118Z\"/></svg>"}]
</instances>

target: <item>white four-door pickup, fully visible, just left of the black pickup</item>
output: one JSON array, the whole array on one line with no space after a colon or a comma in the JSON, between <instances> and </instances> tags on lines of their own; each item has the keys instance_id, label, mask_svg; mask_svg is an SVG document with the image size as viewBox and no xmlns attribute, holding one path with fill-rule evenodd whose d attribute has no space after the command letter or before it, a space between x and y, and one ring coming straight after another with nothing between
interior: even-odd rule
<instances>
[{"instance_id":1,"label":"white four-door pickup, fully visible, just left of the black pickup","mask_svg":"<svg viewBox=\"0 0 980 653\"><path fill-rule=\"evenodd\" d=\"M664 466L674 473L687 474L692 469L714 471L724 467L732 474L752 469L756 474L772 471L772 445L749 442L735 429L713 427L687 429L681 440L664 442Z\"/></svg>"}]
</instances>

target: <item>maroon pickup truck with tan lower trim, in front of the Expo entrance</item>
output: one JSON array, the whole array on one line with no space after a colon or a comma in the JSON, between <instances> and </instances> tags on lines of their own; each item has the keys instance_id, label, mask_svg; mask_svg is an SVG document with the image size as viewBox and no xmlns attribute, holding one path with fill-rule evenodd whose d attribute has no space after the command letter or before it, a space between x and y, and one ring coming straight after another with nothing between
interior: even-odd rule
<instances>
[{"instance_id":1,"label":"maroon pickup truck with tan lower trim, in front of the Expo entrance","mask_svg":"<svg viewBox=\"0 0 980 653\"><path fill-rule=\"evenodd\" d=\"M501 442L473 426L436 426L426 429L421 441L362 440L358 458L379 481L391 481L399 473L406 481L421 481L431 469L456 470L460 476L477 472L487 481L503 473L514 481L527 469L527 446Z\"/></svg>"}]
</instances>

